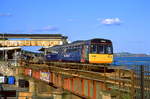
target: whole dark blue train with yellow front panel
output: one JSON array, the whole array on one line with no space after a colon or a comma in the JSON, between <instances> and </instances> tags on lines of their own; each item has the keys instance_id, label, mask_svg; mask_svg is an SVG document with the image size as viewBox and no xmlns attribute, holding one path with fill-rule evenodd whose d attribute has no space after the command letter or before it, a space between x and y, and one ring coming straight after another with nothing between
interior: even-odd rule
<instances>
[{"instance_id":1,"label":"whole dark blue train with yellow front panel","mask_svg":"<svg viewBox=\"0 0 150 99\"><path fill-rule=\"evenodd\" d=\"M110 64L113 62L113 45L109 39L78 40L48 49L46 61Z\"/></svg>"}]
</instances>

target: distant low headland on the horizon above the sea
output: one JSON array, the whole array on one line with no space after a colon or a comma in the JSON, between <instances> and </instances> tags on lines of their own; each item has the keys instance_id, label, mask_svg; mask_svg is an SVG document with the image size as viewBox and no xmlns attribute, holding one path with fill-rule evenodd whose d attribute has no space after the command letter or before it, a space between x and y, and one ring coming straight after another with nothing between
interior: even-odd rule
<instances>
[{"instance_id":1,"label":"distant low headland on the horizon above the sea","mask_svg":"<svg viewBox=\"0 0 150 99\"><path fill-rule=\"evenodd\" d=\"M133 54L129 52L114 53L115 57L150 57L148 54Z\"/></svg>"}]
</instances>

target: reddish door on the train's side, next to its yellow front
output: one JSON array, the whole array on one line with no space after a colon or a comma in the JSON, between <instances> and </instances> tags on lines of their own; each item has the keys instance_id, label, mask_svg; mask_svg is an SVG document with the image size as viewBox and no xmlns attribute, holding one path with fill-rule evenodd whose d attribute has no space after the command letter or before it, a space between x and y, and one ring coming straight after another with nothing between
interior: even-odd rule
<instances>
[{"instance_id":1,"label":"reddish door on the train's side, next to its yellow front","mask_svg":"<svg viewBox=\"0 0 150 99\"><path fill-rule=\"evenodd\" d=\"M82 46L82 52L81 52L81 62L88 62L88 54L89 54L89 46L83 45Z\"/></svg>"}]
</instances>

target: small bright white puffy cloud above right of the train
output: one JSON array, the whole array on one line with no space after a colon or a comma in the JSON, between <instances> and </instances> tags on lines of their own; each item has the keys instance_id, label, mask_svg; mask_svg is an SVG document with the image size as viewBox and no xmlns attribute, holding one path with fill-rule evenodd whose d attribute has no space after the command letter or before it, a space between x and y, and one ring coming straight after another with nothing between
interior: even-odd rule
<instances>
[{"instance_id":1,"label":"small bright white puffy cloud above right of the train","mask_svg":"<svg viewBox=\"0 0 150 99\"><path fill-rule=\"evenodd\" d=\"M102 19L101 23L104 25L120 25L121 20L119 18L107 18L107 19Z\"/></svg>"}]
</instances>

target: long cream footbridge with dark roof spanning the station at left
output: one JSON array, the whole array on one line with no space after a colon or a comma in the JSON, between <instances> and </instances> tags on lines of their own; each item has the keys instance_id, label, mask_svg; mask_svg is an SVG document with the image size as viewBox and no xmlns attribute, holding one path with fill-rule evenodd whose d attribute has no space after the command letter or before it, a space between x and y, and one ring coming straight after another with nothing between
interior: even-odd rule
<instances>
[{"instance_id":1,"label":"long cream footbridge with dark roof spanning the station at left","mask_svg":"<svg viewBox=\"0 0 150 99\"><path fill-rule=\"evenodd\" d=\"M20 40L10 40L14 38ZM0 46L54 46L66 44L67 38L61 34L0 34Z\"/></svg>"}]
</instances>

